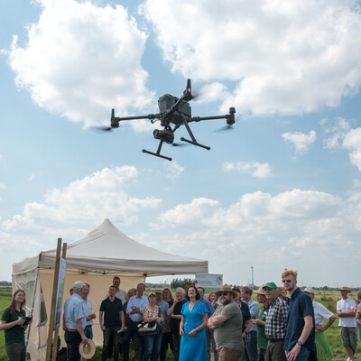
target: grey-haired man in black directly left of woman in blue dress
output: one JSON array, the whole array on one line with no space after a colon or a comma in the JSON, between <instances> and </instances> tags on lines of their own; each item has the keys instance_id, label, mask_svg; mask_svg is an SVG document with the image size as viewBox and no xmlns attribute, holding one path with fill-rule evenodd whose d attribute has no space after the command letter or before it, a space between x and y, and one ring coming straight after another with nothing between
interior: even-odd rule
<instances>
[{"instance_id":1,"label":"grey-haired man in black directly left of woman in blue dress","mask_svg":"<svg viewBox=\"0 0 361 361\"><path fill-rule=\"evenodd\" d=\"M174 360L178 361L180 358L180 319L181 308L183 307L184 296L186 292L182 288L177 288L175 291L175 299L171 307L167 310L167 316L170 318L171 338L173 340Z\"/></svg>"}]
</instances>

